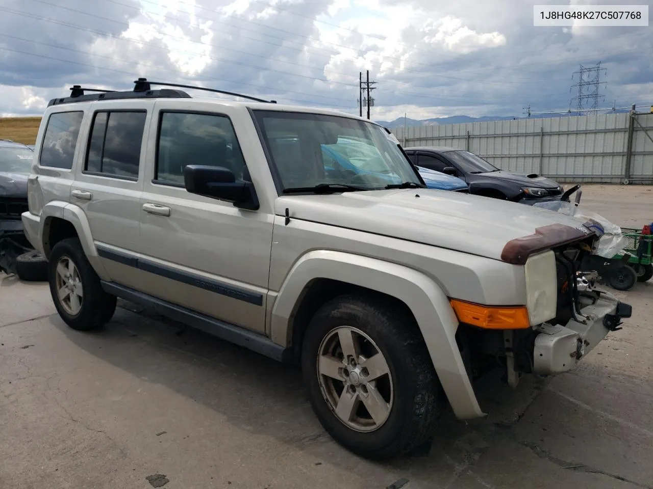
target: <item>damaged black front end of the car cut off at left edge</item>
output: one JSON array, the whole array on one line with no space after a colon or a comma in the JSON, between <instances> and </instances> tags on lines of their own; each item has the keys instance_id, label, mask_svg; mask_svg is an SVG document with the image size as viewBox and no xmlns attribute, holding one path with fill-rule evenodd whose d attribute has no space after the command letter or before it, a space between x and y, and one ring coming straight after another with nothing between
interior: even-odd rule
<instances>
[{"instance_id":1,"label":"damaged black front end of the car cut off at left edge","mask_svg":"<svg viewBox=\"0 0 653 489\"><path fill-rule=\"evenodd\" d=\"M33 250L21 220L27 210L27 198L0 197L0 271L6 274L15 274L16 258Z\"/></svg>"}]
</instances>

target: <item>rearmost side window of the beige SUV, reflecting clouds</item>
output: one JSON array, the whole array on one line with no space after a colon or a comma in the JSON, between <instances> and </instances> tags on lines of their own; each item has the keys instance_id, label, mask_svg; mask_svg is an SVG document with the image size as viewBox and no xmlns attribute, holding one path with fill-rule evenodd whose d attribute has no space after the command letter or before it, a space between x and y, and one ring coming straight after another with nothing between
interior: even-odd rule
<instances>
[{"instance_id":1,"label":"rearmost side window of the beige SUV, reflecting clouds","mask_svg":"<svg viewBox=\"0 0 653 489\"><path fill-rule=\"evenodd\" d=\"M71 170L83 118L83 111L50 115L41 145L40 166Z\"/></svg>"}]
</instances>

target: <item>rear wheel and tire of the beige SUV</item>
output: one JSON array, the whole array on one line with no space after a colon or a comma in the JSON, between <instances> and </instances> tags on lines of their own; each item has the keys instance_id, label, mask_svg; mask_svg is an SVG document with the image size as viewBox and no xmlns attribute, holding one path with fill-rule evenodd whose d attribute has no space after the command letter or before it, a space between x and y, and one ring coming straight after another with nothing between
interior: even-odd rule
<instances>
[{"instance_id":1,"label":"rear wheel and tire of the beige SUV","mask_svg":"<svg viewBox=\"0 0 653 489\"><path fill-rule=\"evenodd\" d=\"M48 280L57 312L72 329L100 329L113 317L116 296L102 288L79 239L63 239L52 248Z\"/></svg>"}]
</instances>

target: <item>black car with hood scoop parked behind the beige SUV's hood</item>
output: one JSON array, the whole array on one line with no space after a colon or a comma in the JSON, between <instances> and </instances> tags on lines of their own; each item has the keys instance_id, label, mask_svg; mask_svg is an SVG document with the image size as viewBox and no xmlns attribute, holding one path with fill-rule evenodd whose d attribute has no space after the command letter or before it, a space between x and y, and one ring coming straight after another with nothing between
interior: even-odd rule
<instances>
[{"instance_id":1,"label":"black car with hood scoop parked behind the beige SUV's hood","mask_svg":"<svg viewBox=\"0 0 653 489\"><path fill-rule=\"evenodd\" d=\"M496 168L481 156L450 147L404 148L413 164L463 179L470 193L520 203L560 200L564 192L556 181L535 173L524 175Z\"/></svg>"}]
</instances>

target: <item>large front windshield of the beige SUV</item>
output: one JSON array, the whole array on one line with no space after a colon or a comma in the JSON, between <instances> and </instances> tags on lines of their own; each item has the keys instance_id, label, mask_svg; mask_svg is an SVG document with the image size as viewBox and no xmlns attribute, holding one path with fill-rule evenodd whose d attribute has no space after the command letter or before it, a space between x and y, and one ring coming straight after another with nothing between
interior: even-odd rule
<instances>
[{"instance_id":1,"label":"large front windshield of the beige SUV","mask_svg":"<svg viewBox=\"0 0 653 489\"><path fill-rule=\"evenodd\" d=\"M325 183L350 190L421 185L397 141L380 126L313 113L255 111L255 117L283 190Z\"/></svg>"}]
</instances>

